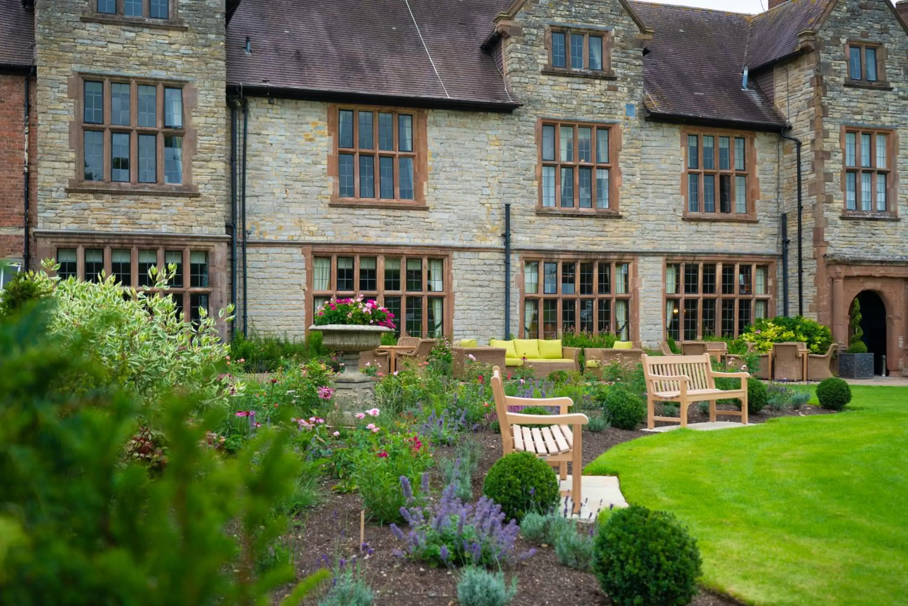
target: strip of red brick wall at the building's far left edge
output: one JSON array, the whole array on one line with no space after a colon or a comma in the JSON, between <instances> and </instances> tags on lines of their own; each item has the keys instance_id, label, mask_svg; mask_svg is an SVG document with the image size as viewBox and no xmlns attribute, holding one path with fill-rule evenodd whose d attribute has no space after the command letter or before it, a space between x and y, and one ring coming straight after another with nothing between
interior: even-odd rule
<instances>
[{"instance_id":1,"label":"strip of red brick wall at the building's far left edge","mask_svg":"<svg viewBox=\"0 0 908 606\"><path fill-rule=\"evenodd\" d=\"M29 88L31 97L29 138L29 198L34 224L35 190L35 80ZM0 259L21 263L23 260L23 169L25 167L25 76L0 75ZM34 249L33 249L34 251Z\"/></svg>"}]
</instances>

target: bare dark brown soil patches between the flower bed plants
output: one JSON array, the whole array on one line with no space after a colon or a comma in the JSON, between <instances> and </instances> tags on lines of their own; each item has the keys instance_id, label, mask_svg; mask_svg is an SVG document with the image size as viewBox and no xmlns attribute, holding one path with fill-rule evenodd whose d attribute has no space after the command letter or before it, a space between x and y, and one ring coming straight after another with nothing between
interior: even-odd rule
<instances>
[{"instance_id":1,"label":"bare dark brown soil patches between the flower bed plants","mask_svg":"<svg viewBox=\"0 0 908 606\"><path fill-rule=\"evenodd\" d=\"M691 407L688 422L708 421L708 415L700 414L696 407ZM753 414L751 422L793 414L823 413L814 406L804 406L801 412L764 411ZM725 417L731 419L732 417ZM604 432L584 432L583 461L596 459L612 446L651 435L640 431L624 431L607 428ZM484 446L484 453L479 462L479 470L473 479L473 493L482 491L482 480L492 463L501 456L501 436L489 431L478 432L473 439ZM436 457L453 456L453 447L440 447ZM435 468L438 469L438 466ZM438 472L433 472L438 473ZM433 485L439 485L439 477L433 477ZM324 484L325 498L316 508L307 512L299 521L297 531L288 537L296 554L297 567L301 574L308 574L324 566L324 558L334 561L337 557L350 559L359 551L360 544L360 496L337 494L331 492L331 482ZM457 603L457 572L444 568L430 568L418 562L395 557L392 551L400 549L401 544L391 533L388 526L366 523L366 542L373 550L364 561L366 577L374 591L376 604L386 606L453 606ZM532 545L518 540L518 551L528 551ZM528 560L519 563L513 570L507 571L518 577L518 593L512 602L514 606L539 606L553 604L558 606L593 606L611 603L599 589L596 577L589 572L572 570L558 562L555 551L550 547L537 549L537 553ZM315 603L310 599L307 603ZM738 604L725 596L701 591L692 602L695 606L731 606Z\"/></svg>"}]
</instances>

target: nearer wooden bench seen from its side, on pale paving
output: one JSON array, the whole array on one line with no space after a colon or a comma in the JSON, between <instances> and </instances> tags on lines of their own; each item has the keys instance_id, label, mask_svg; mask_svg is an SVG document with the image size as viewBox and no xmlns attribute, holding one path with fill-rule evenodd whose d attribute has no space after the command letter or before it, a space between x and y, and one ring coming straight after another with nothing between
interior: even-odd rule
<instances>
[{"instance_id":1,"label":"nearer wooden bench seen from its side, on pale paving","mask_svg":"<svg viewBox=\"0 0 908 606\"><path fill-rule=\"evenodd\" d=\"M505 455L511 452L532 452L558 468L558 478L568 478L568 462L571 464L571 489L569 493L574 502L574 513L580 512L583 500L580 498L580 475L583 472L581 457L583 426L589 422L586 414L568 414L568 407L574 405L570 398L517 398L505 395L501 382L501 369L492 369L492 394L495 396L495 411L498 412L498 425L501 428L502 450ZM520 414L508 412L509 406L551 406L558 408L558 414L540 416L538 414ZM530 429L526 425L552 423L548 427ZM521 424L522 423L522 424Z\"/></svg>"}]
</instances>

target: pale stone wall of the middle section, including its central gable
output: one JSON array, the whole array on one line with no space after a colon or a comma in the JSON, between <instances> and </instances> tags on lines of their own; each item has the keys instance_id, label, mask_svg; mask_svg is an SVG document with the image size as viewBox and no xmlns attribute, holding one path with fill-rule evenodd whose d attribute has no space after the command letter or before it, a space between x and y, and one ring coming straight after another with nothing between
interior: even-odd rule
<instances>
[{"instance_id":1,"label":"pale stone wall of the middle section, including its central gable","mask_svg":"<svg viewBox=\"0 0 908 606\"><path fill-rule=\"evenodd\" d=\"M248 214L250 237L274 243L353 243L434 245L453 249L454 337L488 337L504 331L504 204L511 203L511 326L518 333L519 261L522 253L564 251L620 253L640 257L641 336L647 343L662 339L662 267L666 253L732 253L772 255L779 250L779 206L776 202L778 136L755 140L761 185L756 203L759 222L682 221L684 148L681 129L643 119L642 53L638 29L615 2L528 3L518 15L519 37L505 42L508 82L523 106L513 114L429 110L429 179L426 210L338 208L329 206L329 105L309 101L250 100ZM549 23L615 28L612 65L617 80L543 75L547 61L545 27ZM637 116L626 114L634 104ZM615 122L623 141L620 212L622 218L568 217L537 214L539 117ZM496 250L498 249L498 250ZM274 280L285 278L285 266L262 268ZM299 271L299 269L294 270ZM252 271L250 273L252 277ZM781 289L777 292L781 296ZM271 306L271 294L250 285L250 313ZM301 313L294 298L281 313ZM276 303L275 303L276 304ZM262 307L264 309L265 307ZM278 309L269 307L269 309ZM781 309L781 303L780 303ZM281 332L286 323L275 318ZM256 326L265 326L257 314ZM295 322L294 322L295 323ZM252 321L251 321L252 325ZM271 330L271 329L270 329Z\"/></svg>"}]
</instances>

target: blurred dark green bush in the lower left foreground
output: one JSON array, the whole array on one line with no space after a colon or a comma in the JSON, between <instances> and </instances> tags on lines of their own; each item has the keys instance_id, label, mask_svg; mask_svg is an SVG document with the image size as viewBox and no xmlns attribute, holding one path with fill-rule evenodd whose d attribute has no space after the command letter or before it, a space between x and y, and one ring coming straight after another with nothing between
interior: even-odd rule
<instances>
[{"instance_id":1,"label":"blurred dark green bush in the lower left foreground","mask_svg":"<svg viewBox=\"0 0 908 606\"><path fill-rule=\"evenodd\" d=\"M0 604L270 602L296 577L275 546L287 518L274 503L301 471L287 434L262 429L221 457L191 395L152 408L97 363L91 343L110 316L62 341L42 311L0 321ZM166 445L159 474L124 454L140 413Z\"/></svg>"}]
</instances>

